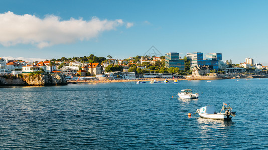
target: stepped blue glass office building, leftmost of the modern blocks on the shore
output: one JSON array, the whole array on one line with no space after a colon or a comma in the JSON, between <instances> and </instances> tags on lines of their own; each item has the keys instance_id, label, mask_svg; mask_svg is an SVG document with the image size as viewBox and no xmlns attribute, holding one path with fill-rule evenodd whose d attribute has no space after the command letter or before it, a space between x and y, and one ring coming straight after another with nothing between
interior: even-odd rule
<instances>
[{"instance_id":1,"label":"stepped blue glass office building, leftmost of the modern blocks on the shore","mask_svg":"<svg viewBox=\"0 0 268 150\"><path fill-rule=\"evenodd\" d=\"M184 60L179 59L179 53L170 52L165 54L165 67L178 67L180 70L184 70Z\"/></svg>"}]
</instances>

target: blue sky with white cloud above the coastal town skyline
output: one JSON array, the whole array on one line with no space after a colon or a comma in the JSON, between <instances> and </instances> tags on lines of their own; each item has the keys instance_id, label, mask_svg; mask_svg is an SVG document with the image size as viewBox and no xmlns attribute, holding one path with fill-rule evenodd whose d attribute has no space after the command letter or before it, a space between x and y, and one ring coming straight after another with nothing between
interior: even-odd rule
<instances>
[{"instance_id":1,"label":"blue sky with white cloud above the coastal town skyline","mask_svg":"<svg viewBox=\"0 0 268 150\"><path fill-rule=\"evenodd\" d=\"M250 57L268 65L267 7L267 0L6 0L1 2L0 14L22 20L12 20L9 23L15 25L5 27L0 20L4 28L0 28L0 34L4 32L0 57L51 59L94 54L122 59L143 55L154 45L162 54L218 52L223 60L232 59L233 63ZM49 16L58 21L44 25L47 32L22 31L17 35L13 29L25 22L25 14L39 19L40 26ZM57 26L71 18L76 23ZM100 31L94 32L88 29L95 23L92 18L97 18L95 22L106 20L112 27L102 22ZM32 25L27 21L26 26L35 28L38 21ZM85 22L88 25L79 26ZM66 32L58 32L62 28ZM46 33L49 35L43 37Z\"/></svg>"}]
</instances>

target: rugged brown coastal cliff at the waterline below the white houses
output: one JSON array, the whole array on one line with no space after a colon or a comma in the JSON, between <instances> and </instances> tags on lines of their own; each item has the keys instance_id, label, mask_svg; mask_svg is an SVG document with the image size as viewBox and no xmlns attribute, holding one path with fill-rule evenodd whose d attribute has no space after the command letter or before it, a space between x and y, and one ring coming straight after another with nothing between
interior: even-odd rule
<instances>
[{"instance_id":1,"label":"rugged brown coastal cliff at the waterline below the white houses","mask_svg":"<svg viewBox=\"0 0 268 150\"><path fill-rule=\"evenodd\" d=\"M67 85L64 75L58 74L20 74L1 76L0 86L51 86Z\"/></svg>"}]
</instances>

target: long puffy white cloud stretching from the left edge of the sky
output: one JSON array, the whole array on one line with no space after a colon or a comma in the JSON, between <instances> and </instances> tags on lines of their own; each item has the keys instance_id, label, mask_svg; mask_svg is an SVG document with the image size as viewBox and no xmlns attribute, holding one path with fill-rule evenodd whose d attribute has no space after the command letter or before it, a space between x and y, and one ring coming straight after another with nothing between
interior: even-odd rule
<instances>
[{"instance_id":1,"label":"long puffy white cloud stretching from the left edge of the sky","mask_svg":"<svg viewBox=\"0 0 268 150\"><path fill-rule=\"evenodd\" d=\"M40 19L35 15L16 15L13 12L0 14L0 44L4 46L33 44L39 48L55 44L72 43L77 40L89 40L103 31L115 30L124 24L123 20L100 20L93 17L86 21L47 15ZM129 28L133 23L126 24Z\"/></svg>"}]
</instances>

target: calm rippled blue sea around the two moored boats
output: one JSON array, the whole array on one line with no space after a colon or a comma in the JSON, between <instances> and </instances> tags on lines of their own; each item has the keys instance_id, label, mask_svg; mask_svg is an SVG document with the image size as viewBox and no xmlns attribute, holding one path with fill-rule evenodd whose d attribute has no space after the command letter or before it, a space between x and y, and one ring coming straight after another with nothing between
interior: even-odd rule
<instances>
[{"instance_id":1,"label":"calm rippled blue sea around the two moored boats","mask_svg":"<svg viewBox=\"0 0 268 150\"><path fill-rule=\"evenodd\" d=\"M0 149L267 149L268 79L0 88ZM182 100L182 89L199 99ZM232 121L196 109L230 103Z\"/></svg>"}]
</instances>

